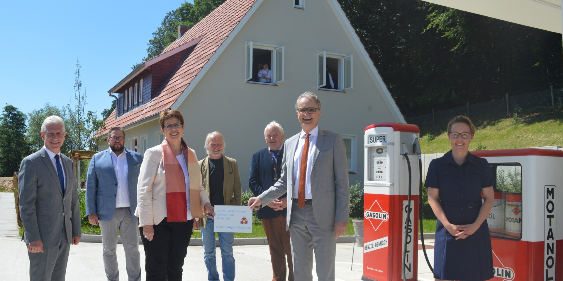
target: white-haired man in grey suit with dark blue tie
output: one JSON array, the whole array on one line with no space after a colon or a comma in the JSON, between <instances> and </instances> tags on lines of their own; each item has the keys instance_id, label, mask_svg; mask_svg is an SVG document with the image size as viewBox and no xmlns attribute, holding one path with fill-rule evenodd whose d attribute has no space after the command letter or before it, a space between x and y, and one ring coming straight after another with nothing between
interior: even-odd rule
<instances>
[{"instance_id":1,"label":"white-haired man in grey suit with dark blue tie","mask_svg":"<svg viewBox=\"0 0 563 281\"><path fill-rule=\"evenodd\" d=\"M74 165L60 153L65 136L61 117L47 117L41 125L44 147L20 165L22 239L31 281L65 280L70 244L77 245L82 235Z\"/></svg>"}]
</instances>

